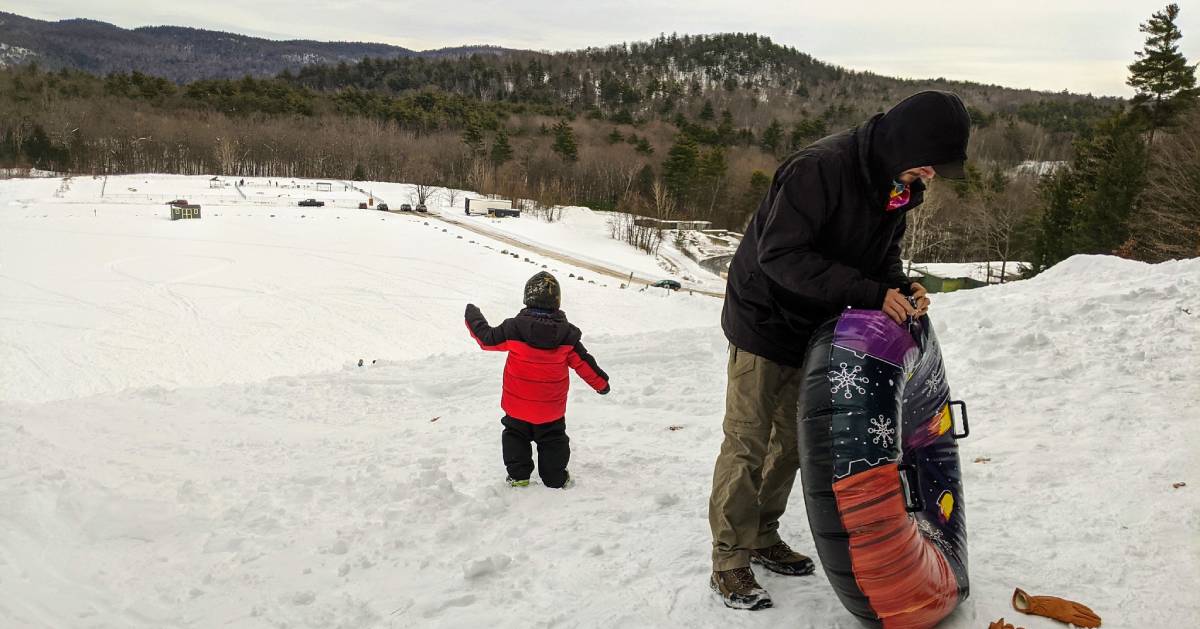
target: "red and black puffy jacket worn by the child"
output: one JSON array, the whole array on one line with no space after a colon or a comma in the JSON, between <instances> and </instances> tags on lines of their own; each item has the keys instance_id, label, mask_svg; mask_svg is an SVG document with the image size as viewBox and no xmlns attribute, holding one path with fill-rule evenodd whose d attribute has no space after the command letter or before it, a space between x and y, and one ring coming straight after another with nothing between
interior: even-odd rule
<instances>
[{"instance_id":1,"label":"red and black puffy jacket worn by the child","mask_svg":"<svg viewBox=\"0 0 1200 629\"><path fill-rule=\"evenodd\" d=\"M466 318L479 347L509 353L500 397L500 408L509 417L530 424L563 418L570 388L566 367L601 395L608 393L608 375L580 342L583 333L566 321L563 311L524 308L492 328L478 307L468 305Z\"/></svg>"}]
</instances>

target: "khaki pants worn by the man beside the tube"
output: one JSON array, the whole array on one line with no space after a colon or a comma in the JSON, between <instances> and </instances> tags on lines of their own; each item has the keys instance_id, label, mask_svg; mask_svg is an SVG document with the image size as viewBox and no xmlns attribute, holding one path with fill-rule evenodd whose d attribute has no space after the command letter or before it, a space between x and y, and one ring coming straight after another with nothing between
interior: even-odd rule
<instances>
[{"instance_id":1,"label":"khaki pants worn by the man beside the tube","mask_svg":"<svg viewBox=\"0 0 1200 629\"><path fill-rule=\"evenodd\" d=\"M714 570L745 568L750 550L780 541L779 519L800 468L800 370L730 346L727 373L725 442L708 501Z\"/></svg>"}]
</instances>

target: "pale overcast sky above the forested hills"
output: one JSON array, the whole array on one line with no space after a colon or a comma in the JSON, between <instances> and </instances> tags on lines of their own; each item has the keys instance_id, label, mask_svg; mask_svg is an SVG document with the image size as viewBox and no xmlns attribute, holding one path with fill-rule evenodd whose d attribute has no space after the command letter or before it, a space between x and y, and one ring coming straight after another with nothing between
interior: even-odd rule
<instances>
[{"instance_id":1,"label":"pale overcast sky above the forested hills","mask_svg":"<svg viewBox=\"0 0 1200 629\"><path fill-rule=\"evenodd\" d=\"M413 49L488 43L544 50L660 32L758 32L852 70L1129 96L1138 24L1165 0L5 0L37 19L181 25L272 40L367 41ZM1200 1L1184 0L1181 49L1200 60Z\"/></svg>"}]
</instances>

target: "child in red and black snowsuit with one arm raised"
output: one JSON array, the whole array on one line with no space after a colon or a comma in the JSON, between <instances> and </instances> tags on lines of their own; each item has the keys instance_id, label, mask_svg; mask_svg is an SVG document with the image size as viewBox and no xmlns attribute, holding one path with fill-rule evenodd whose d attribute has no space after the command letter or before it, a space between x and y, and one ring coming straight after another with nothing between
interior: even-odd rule
<instances>
[{"instance_id":1,"label":"child in red and black snowsuit with one arm raised","mask_svg":"<svg viewBox=\"0 0 1200 629\"><path fill-rule=\"evenodd\" d=\"M508 483L529 485L533 450L538 444L538 474L547 487L562 489L570 481L566 462L571 457L566 437L566 390L570 366L593 389L606 395L608 375L580 342L582 333L558 310L562 289L553 275L541 271L526 282L526 308L492 328L475 307L467 304L467 329L479 347L508 352L504 364L504 432L500 445Z\"/></svg>"}]
</instances>

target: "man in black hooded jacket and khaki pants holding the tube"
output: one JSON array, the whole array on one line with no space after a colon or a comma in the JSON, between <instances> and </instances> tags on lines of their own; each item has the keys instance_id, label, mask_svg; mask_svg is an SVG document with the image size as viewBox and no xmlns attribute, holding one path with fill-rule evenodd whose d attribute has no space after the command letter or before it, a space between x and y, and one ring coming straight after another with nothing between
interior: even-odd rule
<instances>
[{"instance_id":1,"label":"man in black hooded jacket and khaki pants holding the tube","mask_svg":"<svg viewBox=\"0 0 1200 629\"><path fill-rule=\"evenodd\" d=\"M772 606L750 563L812 574L778 532L800 465L796 405L809 337L846 307L883 310L896 323L925 313L925 290L900 263L905 214L935 175L964 176L970 127L958 96L911 96L790 156L750 221L721 313L725 442L708 511L710 586L726 606Z\"/></svg>"}]
</instances>

